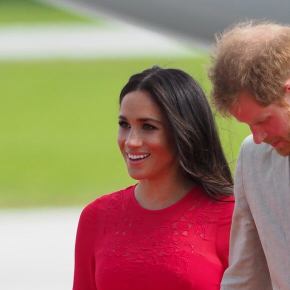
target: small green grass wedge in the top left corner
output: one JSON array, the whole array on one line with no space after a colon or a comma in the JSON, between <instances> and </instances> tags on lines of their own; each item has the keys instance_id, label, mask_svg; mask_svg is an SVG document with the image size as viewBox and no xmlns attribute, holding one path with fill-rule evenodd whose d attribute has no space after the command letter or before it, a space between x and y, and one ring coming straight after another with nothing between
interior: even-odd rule
<instances>
[{"instance_id":1,"label":"small green grass wedge in the top left corner","mask_svg":"<svg viewBox=\"0 0 290 290\"><path fill-rule=\"evenodd\" d=\"M68 22L92 23L92 20L35 0L0 0L0 25ZM96 18L93 23L104 24Z\"/></svg>"}]
</instances>

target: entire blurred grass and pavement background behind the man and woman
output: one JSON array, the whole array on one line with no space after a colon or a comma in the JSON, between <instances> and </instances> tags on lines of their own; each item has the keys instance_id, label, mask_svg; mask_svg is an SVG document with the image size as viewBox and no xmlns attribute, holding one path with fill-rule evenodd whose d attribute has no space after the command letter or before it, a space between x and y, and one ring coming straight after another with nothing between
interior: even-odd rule
<instances>
[{"instance_id":1,"label":"entire blurred grass and pavement background behind the man and woman","mask_svg":"<svg viewBox=\"0 0 290 290\"><path fill-rule=\"evenodd\" d=\"M135 182L116 144L131 74L180 68L209 95L214 33L245 18L287 23L286 4L0 0L0 288L71 288L81 208ZM216 122L233 170L249 130Z\"/></svg>"}]
</instances>

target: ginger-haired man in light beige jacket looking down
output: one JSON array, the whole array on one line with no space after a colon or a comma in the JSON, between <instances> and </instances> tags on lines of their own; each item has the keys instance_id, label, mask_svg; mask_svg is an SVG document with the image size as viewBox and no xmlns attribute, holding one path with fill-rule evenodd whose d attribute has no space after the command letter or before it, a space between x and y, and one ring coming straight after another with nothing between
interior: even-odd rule
<instances>
[{"instance_id":1,"label":"ginger-haired man in light beige jacket looking down","mask_svg":"<svg viewBox=\"0 0 290 290\"><path fill-rule=\"evenodd\" d=\"M211 57L214 105L252 132L237 159L221 289L290 289L290 26L239 23Z\"/></svg>"}]
</instances>

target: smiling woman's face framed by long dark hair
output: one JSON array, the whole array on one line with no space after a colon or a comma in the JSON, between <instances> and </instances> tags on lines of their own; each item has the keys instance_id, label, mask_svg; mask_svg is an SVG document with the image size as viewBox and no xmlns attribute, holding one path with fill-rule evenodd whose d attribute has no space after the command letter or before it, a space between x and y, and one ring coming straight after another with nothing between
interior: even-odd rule
<instances>
[{"instance_id":1,"label":"smiling woman's face framed by long dark hair","mask_svg":"<svg viewBox=\"0 0 290 290\"><path fill-rule=\"evenodd\" d=\"M146 91L124 95L117 142L133 179L163 178L180 170L168 119Z\"/></svg>"}]
</instances>

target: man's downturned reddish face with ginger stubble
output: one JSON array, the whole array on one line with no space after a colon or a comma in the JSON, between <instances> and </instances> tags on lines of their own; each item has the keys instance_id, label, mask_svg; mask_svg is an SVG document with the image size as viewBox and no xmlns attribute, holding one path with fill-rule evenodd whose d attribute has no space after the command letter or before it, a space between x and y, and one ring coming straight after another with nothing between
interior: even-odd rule
<instances>
[{"instance_id":1,"label":"man's downturned reddish face with ginger stubble","mask_svg":"<svg viewBox=\"0 0 290 290\"><path fill-rule=\"evenodd\" d=\"M256 144L265 142L282 156L290 155L290 95L283 103L262 106L247 92L239 95L237 104L229 111L237 121L246 123Z\"/></svg>"}]
</instances>

